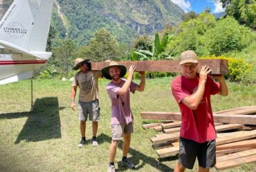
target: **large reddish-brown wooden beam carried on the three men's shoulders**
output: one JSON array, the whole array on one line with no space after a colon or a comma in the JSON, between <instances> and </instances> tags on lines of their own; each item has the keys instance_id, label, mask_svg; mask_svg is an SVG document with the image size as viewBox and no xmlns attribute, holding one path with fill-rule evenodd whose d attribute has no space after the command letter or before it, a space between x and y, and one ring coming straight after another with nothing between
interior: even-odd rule
<instances>
[{"instance_id":1,"label":"large reddish-brown wooden beam carried on the three men's shoulders","mask_svg":"<svg viewBox=\"0 0 256 172\"><path fill-rule=\"evenodd\" d=\"M127 69L131 65L135 65L136 71L147 72L182 72L179 60L169 61L118 61L118 64L125 65ZM101 70L107 67L109 62L91 63L92 70ZM228 74L228 61L223 59L200 59L199 67L208 65L212 69L211 74Z\"/></svg>"}]
</instances>

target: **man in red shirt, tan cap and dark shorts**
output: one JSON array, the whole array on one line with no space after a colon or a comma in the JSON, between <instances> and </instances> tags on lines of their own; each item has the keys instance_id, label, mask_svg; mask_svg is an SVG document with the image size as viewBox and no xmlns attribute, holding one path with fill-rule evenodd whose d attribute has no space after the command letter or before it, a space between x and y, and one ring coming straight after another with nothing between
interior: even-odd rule
<instances>
[{"instance_id":1,"label":"man in red shirt, tan cap and dark shorts","mask_svg":"<svg viewBox=\"0 0 256 172\"><path fill-rule=\"evenodd\" d=\"M216 131L210 96L228 96L223 75L208 76L212 71L204 65L197 74L197 56L192 50L181 53L183 74L172 80L172 94L181 109L179 160L174 171L193 169L196 158L199 171L209 171L216 164Z\"/></svg>"}]
</instances>

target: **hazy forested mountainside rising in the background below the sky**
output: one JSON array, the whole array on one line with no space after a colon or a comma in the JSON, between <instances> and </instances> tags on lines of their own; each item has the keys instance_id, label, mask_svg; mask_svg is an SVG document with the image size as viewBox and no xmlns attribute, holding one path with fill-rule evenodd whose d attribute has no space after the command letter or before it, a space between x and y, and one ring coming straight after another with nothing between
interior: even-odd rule
<instances>
[{"instance_id":1,"label":"hazy forested mountainside rising in the background below the sky","mask_svg":"<svg viewBox=\"0 0 256 172\"><path fill-rule=\"evenodd\" d=\"M66 22L66 37L75 39L80 45L88 43L100 28L116 36L119 42L129 43L137 34L152 34L162 30L167 24L175 25L181 22L181 16L185 14L170 0L56 2L59 6L59 16L60 12L64 14L62 19ZM54 22L57 23L56 20ZM60 32L63 33L63 30Z\"/></svg>"}]
</instances>

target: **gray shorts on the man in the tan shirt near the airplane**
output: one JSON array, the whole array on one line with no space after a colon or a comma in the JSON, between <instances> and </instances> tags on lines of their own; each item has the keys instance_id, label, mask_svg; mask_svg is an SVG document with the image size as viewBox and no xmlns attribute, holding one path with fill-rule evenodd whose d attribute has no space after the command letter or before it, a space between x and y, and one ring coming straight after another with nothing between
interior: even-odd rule
<instances>
[{"instance_id":1,"label":"gray shorts on the man in the tan shirt near the airplane","mask_svg":"<svg viewBox=\"0 0 256 172\"><path fill-rule=\"evenodd\" d=\"M78 119L86 121L89 114L89 120L98 121L100 120L100 106L99 100L93 100L91 102L78 101Z\"/></svg>"}]
</instances>

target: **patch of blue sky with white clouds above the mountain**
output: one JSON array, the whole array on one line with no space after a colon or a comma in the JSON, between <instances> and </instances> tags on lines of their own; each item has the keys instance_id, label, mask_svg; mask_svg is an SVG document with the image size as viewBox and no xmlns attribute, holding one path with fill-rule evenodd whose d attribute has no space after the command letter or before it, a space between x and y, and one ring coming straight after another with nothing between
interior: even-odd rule
<instances>
[{"instance_id":1,"label":"patch of blue sky with white clouds above the mountain","mask_svg":"<svg viewBox=\"0 0 256 172\"><path fill-rule=\"evenodd\" d=\"M170 0L176 3L185 12L194 11L197 14L210 7L211 13L223 12L222 3L219 0Z\"/></svg>"}]
</instances>

